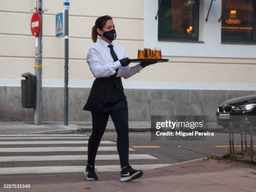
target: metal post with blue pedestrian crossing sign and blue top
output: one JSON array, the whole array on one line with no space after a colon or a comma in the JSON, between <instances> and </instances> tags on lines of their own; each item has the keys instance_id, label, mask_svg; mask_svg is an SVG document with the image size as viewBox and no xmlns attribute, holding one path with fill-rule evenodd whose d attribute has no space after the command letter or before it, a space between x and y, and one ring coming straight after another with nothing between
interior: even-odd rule
<instances>
[{"instance_id":1,"label":"metal post with blue pedestrian crossing sign and blue top","mask_svg":"<svg viewBox=\"0 0 256 192\"><path fill-rule=\"evenodd\" d=\"M68 125L69 119L69 0L64 0L64 11L56 14L56 37L65 39L65 61L64 61L64 125Z\"/></svg>"}]
</instances>

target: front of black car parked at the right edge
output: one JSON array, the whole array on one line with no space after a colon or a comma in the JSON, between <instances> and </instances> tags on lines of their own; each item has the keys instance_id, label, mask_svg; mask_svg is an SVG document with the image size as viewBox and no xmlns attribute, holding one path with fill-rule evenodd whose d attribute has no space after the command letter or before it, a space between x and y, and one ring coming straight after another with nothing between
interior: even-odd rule
<instances>
[{"instance_id":1,"label":"front of black car parked at the right edge","mask_svg":"<svg viewBox=\"0 0 256 192\"><path fill-rule=\"evenodd\" d=\"M217 124L227 128L232 122L239 128L241 123L256 126L256 95L234 98L219 105L216 118Z\"/></svg>"}]
</instances>

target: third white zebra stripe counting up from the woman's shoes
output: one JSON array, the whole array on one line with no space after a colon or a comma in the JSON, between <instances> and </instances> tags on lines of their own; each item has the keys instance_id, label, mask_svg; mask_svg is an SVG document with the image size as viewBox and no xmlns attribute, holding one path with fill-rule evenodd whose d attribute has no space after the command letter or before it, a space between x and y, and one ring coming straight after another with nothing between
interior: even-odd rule
<instances>
[{"instance_id":1,"label":"third white zebra stripe counting up from the woman's shoes","mask_svg":"<svg viewBox=\"0 0 256 192\"><path fill-rule=\"evenodd\" d=\"M87 147L20 147L0 148L0 152L87 151ZM117 151L117 147L99 147L98 151ZM129 151L135 151L129 148Z\"/></svg>"}]
</instances>

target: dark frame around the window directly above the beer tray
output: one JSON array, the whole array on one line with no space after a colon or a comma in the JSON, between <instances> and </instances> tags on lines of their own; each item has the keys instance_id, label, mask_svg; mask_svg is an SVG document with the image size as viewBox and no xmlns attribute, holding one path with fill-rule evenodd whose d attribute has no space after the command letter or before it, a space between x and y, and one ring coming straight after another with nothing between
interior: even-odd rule
<instances>
[{"instance_id":1,"label":"dark frame around the window directly above the beer tray","mask_svg":"<svg viewBox=\"0 0 256 192\"><path fill-rule=\"evenodd\" d=\"M172 0L173 1L173 0ZM158 5L160 3L160 0L158 1ZM200 10L200 0L195 0L195 7L193 10L193 20L194 20L194 33L196 34L196 37L178 37L178 36L168 36L168 37L163 37L163 36L159 36L159 17L160 17L160 13L158 16L158 26L157 26L157 38L158 41L181 41L181 42L199 42L199 19L200 19L200 14L199 14L199 10ZM160 8L160 7L159 7Z\"/></svg>"}]
</instances>

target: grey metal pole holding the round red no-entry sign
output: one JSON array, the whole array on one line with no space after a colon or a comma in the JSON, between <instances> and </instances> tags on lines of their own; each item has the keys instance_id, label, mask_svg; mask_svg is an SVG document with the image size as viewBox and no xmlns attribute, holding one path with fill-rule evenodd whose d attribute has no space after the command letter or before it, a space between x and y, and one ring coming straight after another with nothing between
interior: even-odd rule
<instances>
[{"instance_id":1,"label":"grey metal pole holding the round red no-entry sign","mask_svg":"<svg viewBox=\"0 0 256 192\"><path fill-rule=\"evenodd\" d=\"M42 34L43 34L43 0L38 0L37 10L41 18L41 27L36 37L36 107L34 108L34 125L42 123Z\"/></svg>"}]
</instances>

